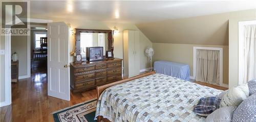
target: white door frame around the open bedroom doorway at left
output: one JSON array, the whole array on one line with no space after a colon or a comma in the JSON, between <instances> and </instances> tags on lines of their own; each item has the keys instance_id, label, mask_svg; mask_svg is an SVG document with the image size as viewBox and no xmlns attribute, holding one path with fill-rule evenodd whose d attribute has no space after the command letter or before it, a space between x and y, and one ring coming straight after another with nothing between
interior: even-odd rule
<instances>
[{"instance_id":1,"label":"white door frame around the open bedroom doorway at left","mask_svg":"<svg viewBox=\"0 0 256 122\"><path fill-rule=\"evenodd\" d=\"M49 23L52 20L47 19L32 19L28 18L29 22L33 23ZM30 26L29 26L30 29ZM27 38L27 66L28 66L28 76L30 77L30 36ZM0 107L10 105L12 100L11 94L11 35L5 36L5 101L0 103Z\"/></svg>"}]
</instances>

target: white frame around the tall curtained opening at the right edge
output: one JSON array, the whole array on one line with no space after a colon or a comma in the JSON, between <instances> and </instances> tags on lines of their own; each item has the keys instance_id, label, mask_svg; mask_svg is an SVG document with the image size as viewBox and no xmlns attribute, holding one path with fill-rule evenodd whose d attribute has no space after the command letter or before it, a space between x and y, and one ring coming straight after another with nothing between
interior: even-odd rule
<instances>
[{"instance_id":1,"label":"white frame around the tall curtained opening at the right edge","mask_svg":"<svg viewBox=\"0 0 256 122\"><path fill-rule=\"evenodd\" d=\"M238 85L244 79L244 25L256 24L256 20L238 22Z\"/></svg>"}]
</instances>

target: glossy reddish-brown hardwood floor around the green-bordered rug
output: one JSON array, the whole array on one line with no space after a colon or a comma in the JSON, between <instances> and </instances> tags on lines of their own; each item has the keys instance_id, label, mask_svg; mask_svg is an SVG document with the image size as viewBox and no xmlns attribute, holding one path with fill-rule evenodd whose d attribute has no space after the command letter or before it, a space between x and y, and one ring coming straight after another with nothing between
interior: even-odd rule
<instances>
[{"instance_id":1,"label":"glossy reddish-brown hardwood floor around the green-bordered rug","mask_svg":"<svg viewBox=\"0 0 256 122\"><path fill-rule=\"evenodd\" d=\"M33 70L32 78L12 83L12 105L1 107L1 121L54 121L52 112L84 101L97 98L96 89L72 94L65 101L47 96L47 73L45 69ZM227 88L196 82L225 90Z\"/></svg>"}]
</instances>

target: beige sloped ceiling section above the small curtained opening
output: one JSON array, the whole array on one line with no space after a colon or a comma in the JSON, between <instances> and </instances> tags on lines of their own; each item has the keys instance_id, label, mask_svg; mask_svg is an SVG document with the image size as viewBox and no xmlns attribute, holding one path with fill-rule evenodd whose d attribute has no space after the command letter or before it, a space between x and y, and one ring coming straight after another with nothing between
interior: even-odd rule
<instances>
[{"instance_id":1,"label":"beige sloped ceiling section above the small curtained opening","mask_svg":"<svg viewBox=\"0 0 256 122\"><path fill-rule=\"evenodd\" d=\"M228 20L255 16L256 9L136 24L154 43L228 45Z\"/></svg>"}]
</instances>

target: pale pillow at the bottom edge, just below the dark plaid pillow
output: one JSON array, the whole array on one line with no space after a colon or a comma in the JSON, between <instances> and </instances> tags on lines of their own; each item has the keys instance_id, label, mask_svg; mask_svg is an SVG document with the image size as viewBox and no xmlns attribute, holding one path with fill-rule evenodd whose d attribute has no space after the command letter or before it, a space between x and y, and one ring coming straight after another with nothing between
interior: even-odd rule
<instances>
[{"instance_id":1,"label":"pale pillow at the bottom edge, just below the dark plaid pillow","mask_svg":"<svg viewBox=\"0 0 256 122\"><path fill-rule=\"evenodd\" d=\"M228 106L215 110L205 119L206 122L216 121L232 121L234 111L237 109L236 106Z\"/></svg>"}]
</instances>

